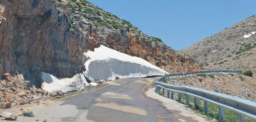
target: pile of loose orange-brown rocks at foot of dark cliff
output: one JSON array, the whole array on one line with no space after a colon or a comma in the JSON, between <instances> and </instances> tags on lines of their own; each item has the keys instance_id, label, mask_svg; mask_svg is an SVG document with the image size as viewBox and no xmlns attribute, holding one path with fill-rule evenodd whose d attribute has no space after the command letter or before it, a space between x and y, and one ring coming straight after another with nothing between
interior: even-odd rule
<instances>
[{"instance_id":1,"label":"pile of loose orange-brown rocks at foot of dark cliff","mask_svg":"<svg viewBox=\"0 0 256 122\"><path fill-rule=\"evenodd\" d=\"M4 77L6 80L0 80L1 109L8 109L14 105L39 103L39 100L57 99L64 95L61 91L50 93L40 88L31 88L30 82L24 80L22 74L12 77L9 73L5 73Z\"/></svg>"}]
</instances>

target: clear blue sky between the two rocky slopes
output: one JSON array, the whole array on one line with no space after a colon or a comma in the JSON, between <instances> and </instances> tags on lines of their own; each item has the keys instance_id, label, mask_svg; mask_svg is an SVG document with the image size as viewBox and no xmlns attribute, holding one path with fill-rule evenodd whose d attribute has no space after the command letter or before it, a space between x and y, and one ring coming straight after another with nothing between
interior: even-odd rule
<instances>
[{"instance_id":1,"label":"clear blue sky between the two rocky slopes","mask_svg":"<svg viewBox=\"0 0 256 122\"><path fill-rule=\"evenodd\" d=\"M186 48L256 14L256 0L88 0L158 37Z\"/></svg>"}]
</instances>

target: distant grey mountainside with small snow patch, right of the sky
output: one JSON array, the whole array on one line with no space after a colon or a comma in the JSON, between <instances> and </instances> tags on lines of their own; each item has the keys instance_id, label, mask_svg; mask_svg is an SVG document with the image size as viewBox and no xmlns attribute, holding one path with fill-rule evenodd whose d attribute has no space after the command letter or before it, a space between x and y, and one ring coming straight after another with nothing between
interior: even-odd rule
<instances>
[{"instance_id":1,"label":"distant grey mountainside with small snow patch, right of the sky","mask_svg":"<svg viewBox=\"0 0 256 122\"><path fill-rule=\"evenodd\" d=\"M206 67L256 72L256 15L180 50Z\"/></svg>"}]
</instances>

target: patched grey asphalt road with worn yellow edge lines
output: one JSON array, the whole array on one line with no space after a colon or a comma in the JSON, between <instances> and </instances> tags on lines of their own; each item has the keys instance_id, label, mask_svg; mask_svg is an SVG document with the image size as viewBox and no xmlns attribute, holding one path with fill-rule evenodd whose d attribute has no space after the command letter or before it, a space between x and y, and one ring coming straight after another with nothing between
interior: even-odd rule
<instances>
[{"instance_id":1,"label":"patched grey asphalt road with worn yellow edge lines","mask_svg":"<svg viewBox=\"0 0 256 122\"><path fill-rule=\"evenodd\" d=\"M158 78L116 80L84 91L70 92L49 105L32 107L35 117L19 116L16 122L172 122L172 112L143 95ZM77 95L78 94L78 95ZM74 96L72 96L74 95Z\"/></svg>"}]
</instances>

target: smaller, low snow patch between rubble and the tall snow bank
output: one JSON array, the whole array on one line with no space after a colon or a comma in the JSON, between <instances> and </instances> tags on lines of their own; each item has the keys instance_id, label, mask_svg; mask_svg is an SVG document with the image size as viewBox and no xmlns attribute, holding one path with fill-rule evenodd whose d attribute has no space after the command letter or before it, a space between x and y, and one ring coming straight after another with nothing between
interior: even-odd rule
<instances>
[{"instance_id":1,"label":"smaller, low snow patch between rubble and the tall snow bank","mask_svg":"<svg viewBox=\"0 0 256 122\"><path fill-rule=\"evenodd\" d=\"M83 74L76 74L72 78L57 78L49 73L42 73L42 89L48 92L61 90L62 92L84 89L89 86Z\"/></svg>"}]
</instances>

